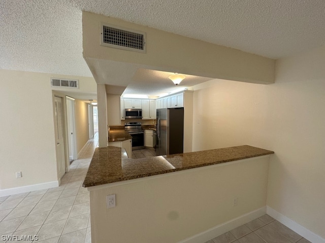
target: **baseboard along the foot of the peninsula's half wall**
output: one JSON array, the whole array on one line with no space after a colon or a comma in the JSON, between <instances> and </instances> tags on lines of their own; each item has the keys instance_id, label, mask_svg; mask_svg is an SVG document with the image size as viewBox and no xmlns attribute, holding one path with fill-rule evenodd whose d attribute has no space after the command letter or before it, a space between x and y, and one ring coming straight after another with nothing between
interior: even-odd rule
<instances>
[{"instance_id":1,"label":"baseboard along the foot of the peninsula's half wall","mask_svg":"<svg viewBox=\"0 0 325 243\"><path fill-rule=\"evenodd\" d=\"M222 224L219 224L213 228L210 228L204 232L201 232L199 234L193 235L189 238L186 238L184 240L179 241L178 243L198 243L198 242L206 242L210 239L213 239L214 237L219 236L220 234L223 234L225 232L228 232L232 229L237 228L238 226L241 226L243 224L248 223L249 221L252 221L254 219L257 219L258 217L261 217L266 214L266 207L262 207L260 209L254 210L252 212L249 212L247 214L244 214L242 216L239 216L235 219L226 221Z\"/></svg>"}]
</instances>

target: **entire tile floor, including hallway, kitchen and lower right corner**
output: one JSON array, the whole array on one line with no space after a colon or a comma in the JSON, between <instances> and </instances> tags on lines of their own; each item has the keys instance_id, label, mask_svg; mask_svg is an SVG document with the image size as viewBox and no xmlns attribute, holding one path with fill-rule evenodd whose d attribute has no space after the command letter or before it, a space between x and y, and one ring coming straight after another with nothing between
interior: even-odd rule
<instances>
[{"instance_id":1,"label":"entire tile floor, including hallway, kitchen and lower right corner","mask_svg":"<svg viewBox=\"0 0 325 243\"><path fill-rule=\"evenodd\" d=\"M87 142L56 188L0 197L0 242L91 243L89 194L81 184L98 144ZM154 149L133 150L133 158L155 156ZM39 240L3 240L3 235L38 235ZM6 237L6 236L5 236ZM310 243L264 215L206 243Z\"/></svg>"}]
</instances>

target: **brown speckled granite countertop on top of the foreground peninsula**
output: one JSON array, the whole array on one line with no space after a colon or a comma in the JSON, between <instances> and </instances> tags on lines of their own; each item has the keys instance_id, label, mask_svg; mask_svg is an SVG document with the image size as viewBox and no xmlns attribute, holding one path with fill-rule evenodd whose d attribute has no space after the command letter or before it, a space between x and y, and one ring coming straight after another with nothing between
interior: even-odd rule
<instances>
[{"instance_id":1,"label":"brown speckled granite countertop on top of the foreground peninsula","mask_svg":"<svg viewBox=\"0 0 325 243\"><path fill-rule=\"evenodd\" d=\"M121 148L96 148L83 187L132 180L274 153L248 145L147 158L121 158Z\"/></svg>"}]
</instances>

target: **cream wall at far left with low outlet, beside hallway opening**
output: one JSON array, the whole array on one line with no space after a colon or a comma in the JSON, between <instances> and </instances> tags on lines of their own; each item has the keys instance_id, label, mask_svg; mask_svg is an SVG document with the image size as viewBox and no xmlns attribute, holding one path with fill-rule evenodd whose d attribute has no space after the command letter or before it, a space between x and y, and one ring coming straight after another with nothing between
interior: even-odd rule
<instances>
[{"instance_id":1,"label":"cream wall at far left with low outlet, beside hallway opening","mask_svg":"<svg viewBox=\"0 0 325 243\"><path fill-rule=\"evenodd\" d=\"M94 79L14 70L0 76L0 193L57 181L50 77L79 79L80 92L96 92Z\"/></svg>"}]
</instances>

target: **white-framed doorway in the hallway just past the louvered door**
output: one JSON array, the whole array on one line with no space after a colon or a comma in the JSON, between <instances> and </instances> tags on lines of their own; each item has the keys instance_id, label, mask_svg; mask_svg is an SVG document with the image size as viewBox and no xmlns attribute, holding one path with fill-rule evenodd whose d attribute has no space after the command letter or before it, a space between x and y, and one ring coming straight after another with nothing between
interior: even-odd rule
<instances>
[{"instance_id":1,"label":"white-framed doorway in the hallway just past the louvered door","mask_svg":"<svg viewBox=\"0 0 325 243\"><path fill-rule=\"evenodd\" d=\"M75 159L78 159L77 137L76 137L75 99L71 98L69 96L66 96L66 101L67 101L67 125L68 125L68 128L67 128L68 136L67 137L68 137L68 148L69 148L69 160L70 160L70 155L72 155L72 159L75 160ZM70 151L72 152L72 154L70 154Z\"/></svg>"}]
</instances>

